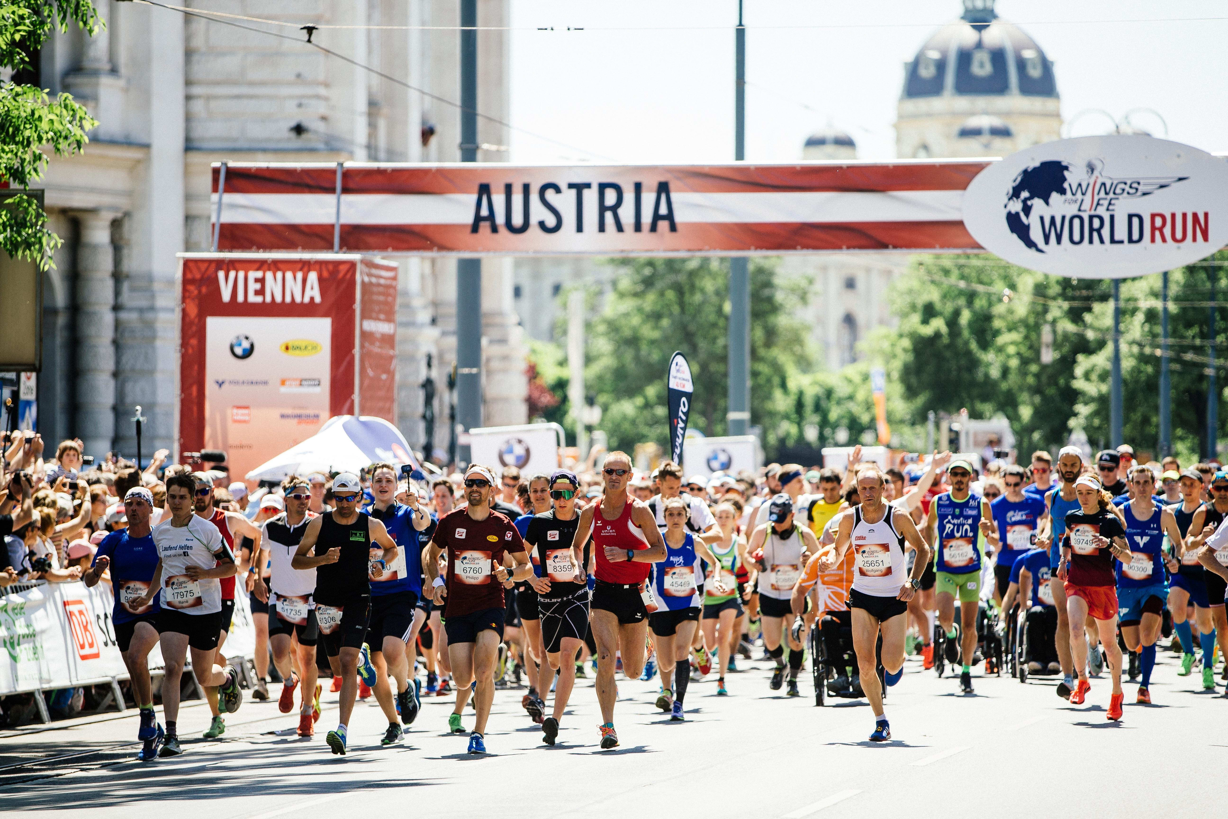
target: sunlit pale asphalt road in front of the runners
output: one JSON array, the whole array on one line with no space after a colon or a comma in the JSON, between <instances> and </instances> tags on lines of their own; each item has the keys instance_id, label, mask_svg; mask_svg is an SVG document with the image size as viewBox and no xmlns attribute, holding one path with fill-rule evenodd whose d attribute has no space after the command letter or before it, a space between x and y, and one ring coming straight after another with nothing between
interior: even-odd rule
<instances>
[{"instance_id":1,"label":"sunlit pale asphalt road in front of the runners","mask_svg":"<svg viewBox=\"0 0 1228 819\"><path fill-rule=\"evenodd\" d=\"M324 695L313 739L293 737L295 715L274 701L247 700L221 740L199 739L208 710L181 713L185 753L135 761L136 716L76 721L50 731L0 736L0 804L38 815L211 815L247 819L383 814L437 817L577 817L615 810L704 817L817 814L1006 817L1214 815L1224 804L1217 771L1228 756L1228 699L1176 677L1162 652L1153 705L1105 720L1110 683L1093 679L1083 706L1059 699L1055 680L1019 684L974 673L976 694L907 662L887 713L894 739L867 742L873 716L863 700L815 707L808 672L799 699L768 686L766 663L742 663L716 696L715 675L688 691L685 723L653 707L658 681L620 680L615 713L621 747L602 751L592 677L581 680L548 748L519 708L519 690L497 691L486 756L451 736L452 699L430 697L398 745L378 744L386 726L375 700L350 724L350 753L328 753L336 695ZM271 686L275 696L278 685ZM158 712L161 718L161 711ZM467 708L465 726L472 727ZM290 736L274 731L291 729ZM63 759L60 756L75 754ZM1216 763L1213 760L1221 760ZM149 814L144 814L149 815Z\"/></svg>"}]
</instances>

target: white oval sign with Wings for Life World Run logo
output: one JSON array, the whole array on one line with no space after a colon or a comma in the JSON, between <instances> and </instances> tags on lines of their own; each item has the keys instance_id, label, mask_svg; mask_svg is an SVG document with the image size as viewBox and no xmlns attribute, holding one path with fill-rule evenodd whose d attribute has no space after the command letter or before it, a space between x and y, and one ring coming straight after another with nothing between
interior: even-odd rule
<instances>
[{"instance_id":1,"label":"white oval sign with Wings for Life World Run logo","mask_svg":"<svg viewBox=\"0 0 1228 819\"><path fill-rule=\"evenodd\" d=\"M1228 161L1151 136L1035 145L973 179L964 226L985 249L1044 273L1172 270L1228 243Z\"/></svg>"}]
</instances>

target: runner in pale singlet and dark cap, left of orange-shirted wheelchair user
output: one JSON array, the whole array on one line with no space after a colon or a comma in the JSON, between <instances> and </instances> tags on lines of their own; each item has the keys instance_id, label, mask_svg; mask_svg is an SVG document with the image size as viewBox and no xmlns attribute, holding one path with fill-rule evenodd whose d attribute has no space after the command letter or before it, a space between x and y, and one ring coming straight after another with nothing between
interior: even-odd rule
<instances>
[{"instance_id":1,"label":"runner in pale singlet and dark cap, left of orange-shirted wheelchair user","mask_svg":"<svg viewBox=\"0 0 1228 819\"><path fill-rule=\"evenodd\" d=\"M782 478L790 474L781 472ZM788 486L801 481L802 474L798 470L796 479L791 478L788 484L782 479L781 485ZM785 492L779 492L765 506L766 521L750 534L747 551L755 561L755 588L759 592L764 648L776 662L769 685L771 690L779 691L785 677L785 648L780 645L781 634L785 618L793 613L791 603L793 586L801 578L806 561L819 550L819 541L813 532L795 519L793 499ZM788 696L801 696L797 690L797 673L802 668L804 642L804 635L798 635L796 639L792 634L788 635Z\"/></svg>"}]
</instances>

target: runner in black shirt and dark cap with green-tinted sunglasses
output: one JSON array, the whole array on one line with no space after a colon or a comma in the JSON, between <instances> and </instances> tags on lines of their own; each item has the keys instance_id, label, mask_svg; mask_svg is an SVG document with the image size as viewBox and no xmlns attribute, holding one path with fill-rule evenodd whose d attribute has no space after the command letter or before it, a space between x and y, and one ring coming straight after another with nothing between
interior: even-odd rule
<instances>
[{"instance_id":1,"label":"runner in black shirt and dark cap with green-tinted sunglasses","mask_svg":"<svg viewBox=\"0 0 1228 819\"><path fill-rule=\"evenodd\" d=\"M582 554L572 550L576 527L580 526L576 512L580 480L566 469L556 470L548 480L554 508L529 519L524 543L540 566L540 573L529 577L528 582L537 594L543 650L548 668L559 672L554 712L542 722L542 740L553 745L576 684L576 657L588 632L588 586L581 580L583 569L588 566L588 553L587 549ZM543 679L549 674L544 673Z\"/></svg>"}]
</instances>

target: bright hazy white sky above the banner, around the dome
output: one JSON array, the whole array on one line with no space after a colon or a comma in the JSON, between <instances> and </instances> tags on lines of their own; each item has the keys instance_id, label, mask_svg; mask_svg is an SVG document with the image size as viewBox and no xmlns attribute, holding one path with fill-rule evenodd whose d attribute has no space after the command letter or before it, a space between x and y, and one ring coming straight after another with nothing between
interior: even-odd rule
<instances>
[{"instance_id":1,"label":"bright hazy white sky above the banner, around the dome","mask_svg":"<svg viewBox=\"0 0 1228 819\"><path fill-rule=\"evenodd\" d=\"M895 157L903 64L960 0L747 0L747 160L801 157L833 123ZM998 0L1055 64L1062 118L1153 108L1169 139L1228 152L1228 2ZM737 0L512 0L513 162L733 160ZM567 26L586 31L566 31ZM1156 136L1149 113L1133 122ZM1073 135L1106 133L1084 115ZM581 153L583 149L591 155ZM600 155L600 156L594 156Z\"/></svg>"}]
</instances>

